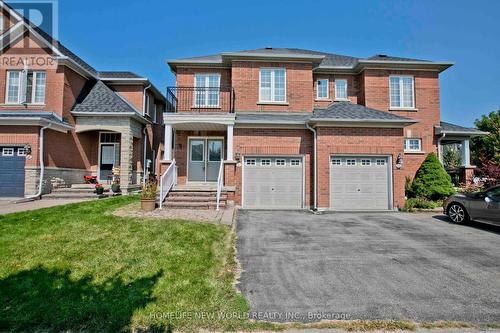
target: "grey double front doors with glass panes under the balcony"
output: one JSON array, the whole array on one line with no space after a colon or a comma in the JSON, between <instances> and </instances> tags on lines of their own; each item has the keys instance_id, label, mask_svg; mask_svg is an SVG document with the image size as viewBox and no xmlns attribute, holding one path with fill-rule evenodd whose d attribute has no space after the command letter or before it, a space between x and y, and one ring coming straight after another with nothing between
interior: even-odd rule
<instances>
[{"instance_id":1,"label":"grey double front doors with glass panes under the balcony","mask_svg":"<svg viewBox=\"0 0 500 333\"><path fill-rule=\"evenodd\" d=\"M222 156L222 139L189 139L188 181L216 182Z\"/></svg>"}]
</instances>

